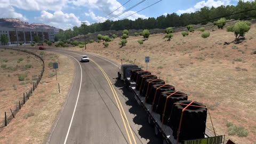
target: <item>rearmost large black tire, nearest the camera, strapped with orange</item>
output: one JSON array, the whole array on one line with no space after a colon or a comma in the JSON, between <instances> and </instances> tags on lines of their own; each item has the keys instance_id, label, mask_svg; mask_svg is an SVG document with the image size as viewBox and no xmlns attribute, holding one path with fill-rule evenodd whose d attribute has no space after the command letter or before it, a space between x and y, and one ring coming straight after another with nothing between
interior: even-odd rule
<instances>
[{"instance_id":1,"label":"rearmost large black tire, nearest the camera, strapped with orange","mask_svg":"<svg viewBox=\"0 0 256 144\"><path fill-rule=\"evenodd\" d=\"M191 101L183 100L178 102L183 104L189 104ZM195 101L192 103L192 105L205 107L204 105L202 105L202 103L195 102ZM173 130L173 137L175 139L177 139L177 132L179 129L182 109L185 107L186 105L180 105L180 104L174 104L173 106L169 125ZM204 138L205 128L206 128L207 109L201 108L201 107L189 106L183 112L183 118L181 123L180 134L179 134L179 141Z\"/></svg>"}]
</instances>

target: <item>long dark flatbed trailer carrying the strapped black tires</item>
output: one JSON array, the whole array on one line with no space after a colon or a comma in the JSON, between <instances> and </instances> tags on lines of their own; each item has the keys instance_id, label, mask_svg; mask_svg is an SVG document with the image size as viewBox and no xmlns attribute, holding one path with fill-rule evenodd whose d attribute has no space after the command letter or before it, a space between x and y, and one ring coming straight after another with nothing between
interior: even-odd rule
<instances>
[{"instance_id":1,"label":"long dark flatbed trailer carrying the strapped black tires","mask_svg":"<svg viewBox=\"0 0 256 144\"><path fill-rule=\"evenodd\" d=\"M171 127L167 126L165 124L162 124L160 115L155 113L155 111L153 111L151 109L152 105L146 103L145 97L141 97L140 92L135 89L136 83L132 82L130 77L126 77L122 80L124 81L126 88L134 93L134 98L135 98L135 100L137 100L138 104L140 106L142 106L142 108L147 112L147 115L148 115L147 121L150 125L154 126L155 135L157 137L162 137L163 143L170 143L170 144L185 143L186 144L186 142L178 142L177 140L174 139L174 137L172 135L173 130L171 129ZM207 127L205 130L205 138L209 138L209 143L210 143L210 141L213 141L210 139L217 139L217 138L221 139L221 143L224 143L224 140L222 140L223 139L222 135L219 135L219 136L215 135L210 129L207 129ZM225 139L225 137L224 137L224 139ZM205 139L205 141L208 143L208 139ZM191 142L191 144L197 143L196 140L191 140L190 142ZM187 143L189 143L189 142L187 142ZM199 141L198 141L198 144L199 144ZM211 143L211 144L215 144L215 143Z\"/></svg>"}]
</instances>

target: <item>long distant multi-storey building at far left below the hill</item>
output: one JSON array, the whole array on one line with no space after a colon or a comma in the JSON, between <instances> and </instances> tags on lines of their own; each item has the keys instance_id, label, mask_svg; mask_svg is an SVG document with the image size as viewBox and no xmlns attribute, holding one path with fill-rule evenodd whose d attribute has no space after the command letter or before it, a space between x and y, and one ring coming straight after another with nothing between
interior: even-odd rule
<instances>
[{"instance_id":1,"label":"long distant multi-storey building at far left below the hill","mask_svg":"<svg viewBox=\"0 0 256 144\"><path fill-rule=\"evenodd\" d=\"M29 44L34 41L34 36L38 36L40 41L47 39L54 41L58 31L54 29L28 29L28 28L9 28L0 26L0 35L7 35L9 44L19 44L20 42ZM2 42L0 42L2 45Z\"/></svg>"}]
</instances>

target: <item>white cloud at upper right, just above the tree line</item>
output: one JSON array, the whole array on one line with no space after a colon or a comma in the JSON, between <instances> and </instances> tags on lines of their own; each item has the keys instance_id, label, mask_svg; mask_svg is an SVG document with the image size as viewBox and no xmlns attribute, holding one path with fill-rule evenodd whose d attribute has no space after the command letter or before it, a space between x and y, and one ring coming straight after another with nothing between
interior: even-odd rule
<instances>
[{"instance_id":1,"label":"white cloud at upper right, just above the tree line","mask_svg":"<svg viewBox=\"0 0 256 144\"><path fill-rule=\"evenodd\" d=\"M178 10L177 13L178 14L182 14L182 13L191 13L191 12L195 12L199 9L201 9L204 6L208 6L208 7L218 7L221 5L229 5L231 0L223 0L223 1L214 1L214 0L208 0L208 1L201 1L196 3L196 5L194 5L193 7L190 7L189 9L186 10ZM249 0L250 1L250 0Z\"/></svg>"}]
</instances>

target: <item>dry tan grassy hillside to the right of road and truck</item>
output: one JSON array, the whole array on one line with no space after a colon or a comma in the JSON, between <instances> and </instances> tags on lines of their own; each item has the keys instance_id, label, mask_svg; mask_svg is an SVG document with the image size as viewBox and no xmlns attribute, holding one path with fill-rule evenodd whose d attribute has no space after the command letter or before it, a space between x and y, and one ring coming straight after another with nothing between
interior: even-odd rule
<instances>
[{"instance_id":1,"label":"dry tan grassy hillside to the right of road and truck","mask_svg":"<svg viewBox=\"0 0 256 144\"><path fill-rule=\"evenodd\" d=\"M211 31L208 38L202 38L201 33L195 31L187 37L174 33L170 42L165 42L163 35L149 37L143 45L138 39L131 39L122 48L119 41L110 42L108 48L103 48L102 43L90 43L86 51L118 63L120 59L124 63L136 59L135 63L145 70L145 56L150 56L148 71L168 79L177 90L192 94L191 99L213 109L211 115L218 134L226 134L226 139L236 143L252 143L256 137L253 127L256 126L256 57L251 53L256 50L256 41L251 37L255 37L255 33L253 25L240 44L223 45L235 38L223 29ZM69 49L82 51L79 47ZM245 127L248 136L228 135L227 119ZM207 127L211 128L210 121Z\"/></svg>"}]
</instances>

